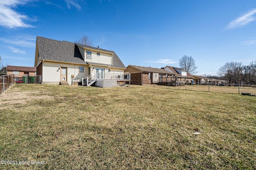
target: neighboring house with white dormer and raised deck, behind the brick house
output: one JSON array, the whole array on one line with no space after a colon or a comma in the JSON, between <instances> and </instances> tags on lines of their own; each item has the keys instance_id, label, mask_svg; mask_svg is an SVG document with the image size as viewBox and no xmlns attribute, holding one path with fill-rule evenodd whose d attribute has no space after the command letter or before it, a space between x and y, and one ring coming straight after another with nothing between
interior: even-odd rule
<instances>
[{"instance_id":1,"label":"neighboring house with white dormer and raised deck, behind the brick house","mask_svg":"<svg viewBox=\"0 0 256 170\"><path fill-rule=\"evenodd\" d=\"M172 86L183 86L185 83L190 84L193 79L188 70L173 66L165 66L163 69L175 75L175 80L170 82Z\"/></svg>"}]
</instances>

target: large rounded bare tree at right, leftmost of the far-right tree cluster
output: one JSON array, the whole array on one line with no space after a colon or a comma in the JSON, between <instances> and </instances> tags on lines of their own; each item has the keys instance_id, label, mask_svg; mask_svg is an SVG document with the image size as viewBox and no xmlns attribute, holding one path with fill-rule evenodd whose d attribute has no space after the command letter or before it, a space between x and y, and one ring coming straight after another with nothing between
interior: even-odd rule
<instances>
[{"instance_id":1,"label":"large rounded bare tree at right, leftmost of the far-right tree cluster","mask_svg":"<svg viewBox=\"0 0 256 170\"><path fill-rule=\"evenodd\" d=\"M227 62L218 70L219 76L224 76L229 83L238 82L242 78L242 63L241 62Z\"/></svg>"}]
</instances>

